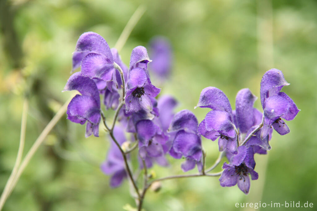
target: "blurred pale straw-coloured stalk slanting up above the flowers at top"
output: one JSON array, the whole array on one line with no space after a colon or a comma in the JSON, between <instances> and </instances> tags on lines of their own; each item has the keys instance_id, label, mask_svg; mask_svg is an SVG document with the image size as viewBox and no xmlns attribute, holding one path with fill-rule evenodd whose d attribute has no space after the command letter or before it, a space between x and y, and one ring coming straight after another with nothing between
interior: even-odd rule
<instances>
[{"instance_id":1,"label":"blurred pale straw-coloured stalk slanting up above the flowers at top","mask_svg":"<svg viewBox=\"0 0 317 211\"><path fill-rule=\"evenodd\" d=\"M145 10L146 10L146 7L144 5L140 5L135 10L133 15L131 16L130 20L126 24L126 27L123 29L118 41L114 45L114 48L116 48L118 50L118 52L120 52L120 50L122 49L122 47L126 43L126 41L127 41L128 37L130 36L132 30L134 29L135 25L139 22L140 18L142 17L142 15L145 12Z\"/></svg>"}]
</instances>

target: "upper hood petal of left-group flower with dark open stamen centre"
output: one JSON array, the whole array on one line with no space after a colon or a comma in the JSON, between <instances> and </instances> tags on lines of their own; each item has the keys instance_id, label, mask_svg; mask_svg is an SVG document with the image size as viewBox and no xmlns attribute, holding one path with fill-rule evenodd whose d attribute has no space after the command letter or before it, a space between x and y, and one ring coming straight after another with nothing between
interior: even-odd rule
<instances>
[{"instance_id":1,"label":"upper hood petal of left-group flower with dark open stamen centre","mask_svg":"<svg viewBox=\"0 0 317 211\"><path fill-rule=\"evenodd\" d=\"M147 70L147 63L151 61L152 60L150 60L146 48L143 46L137 46L132 50L129 70L132 70L135 67Z\"/></svg>"}]
</instances>

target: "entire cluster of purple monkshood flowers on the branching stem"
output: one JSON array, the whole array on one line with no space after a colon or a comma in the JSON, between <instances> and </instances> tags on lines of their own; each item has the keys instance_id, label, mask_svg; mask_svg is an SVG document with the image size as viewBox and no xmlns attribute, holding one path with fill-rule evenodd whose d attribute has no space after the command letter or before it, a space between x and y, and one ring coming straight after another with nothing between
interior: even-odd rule
<instances>
[{"instance_id":1,"label":"entire cluster of purple monkshood flowers on the branching stem","mask_svg":"<svg viewBox=\"0 0 317 211\"><path fill-rule=\"evenodd\" d=\"M151 42L151 54L150 71L166 79L172 61L170 45L162 38L155 39ZM138 46L132 50L127 67L118 51L110 49L94 32L82 34L76 44L73 70L81 67L81 71L70 76L64 91L77 90L81 95L70 101L68 119L80 124L87 122L86 137L92 134L98 137L103 120L111 147L101 169L111 175L111 187L118 187L124 178L130 178L139 193L129 154L134 149L138 152L139 168L145 173L154 163L168 166L166 156L171 156L184 158L180 166L184 172L197 166L199 174L206 175L201 139L205 137L212 141L218 139L219 151L229 160L223 163L223 172L219 174L220 185L238 184L248 194L249 175L252 180L258 178L254 154L266 154L271 149L269 140L273 129L281 135L287 134L289 128L282 118L292 120L299 112L293 100L280 92L283 86L289 85L282 72L271 69L263 75L260 91L263 112L254 108L257 97L247 88L237 93L235 110L220 89L204 88L196 107L210 111L199 123L189 110L174 113L178 103L173 97L158 97L161 89L152 84L148 70L151 59L146 48ZM100 95L104 97L103 106ZM112 127L107 126L103 109L116 111ZM130 133L129 141L126 133Z\"/></svg>"}]
</instances>

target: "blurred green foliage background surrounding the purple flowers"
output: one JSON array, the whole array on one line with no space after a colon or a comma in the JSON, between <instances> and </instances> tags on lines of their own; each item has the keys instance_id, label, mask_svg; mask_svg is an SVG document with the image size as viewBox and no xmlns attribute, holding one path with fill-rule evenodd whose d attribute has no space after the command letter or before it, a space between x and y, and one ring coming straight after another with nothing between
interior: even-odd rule
<instances>
[{"instance_id":1,"label":"blurred green foliage background surrounding the purple flowers","mask_svg":"<svg viewBox=\"0 0 317 211\"><path fill-rule=\"evenodd\" d=\"M102 35L110 47L141 1L0 0L0 189L10 175L18 149L23 96L30 99L25 152L71 93L61 93L70 76L72 52L86 31ZM245 87L259 96L262 75L275 67L291 84L284 87L301 112L288 122L291 132L270 141L268 155L256 156L259 179L249 195L237 186L220 187L218 178L162 182L146 195L146 210L253 210L235 203L306 201L317 209L317 2L250 0L149 0L145 14L120 52L128 64L131 50L155 35L171 40L173 72L162 93L176 97L176 111L190 109L201 121L208 109L195 109L201 90L216 86L232 107ZM157 85L157 84L156 84ZM159 86L159 85L157 85ZM258 99L255 106L261 110ZM113 115L108 112L107 115ZM29 163L3 210L122 210L134 206L128 182L111 189L99 164L109 142L84 137L84 126L66 115ZM207 167L218 156L217 142L203 139ZM171 159L170 159L171 160ZM182 160L155 166L157 177L183 174ZM221 165L215 170L221 169ZM191 171L196 172L197 169ZM261 208L261 210L268 210ZM279 208L276 210L302 210Z\"/></svg>"}]
</instances>

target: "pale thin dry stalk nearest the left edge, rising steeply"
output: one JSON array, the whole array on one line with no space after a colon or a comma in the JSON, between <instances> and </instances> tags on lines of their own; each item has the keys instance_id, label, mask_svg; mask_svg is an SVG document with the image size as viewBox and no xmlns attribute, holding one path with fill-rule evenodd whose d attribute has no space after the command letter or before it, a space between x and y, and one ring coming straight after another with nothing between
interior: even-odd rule
<instances>
[{"instance_id":1,"label":"pale thin dry stalk nearest the left edge, rising steeply","mask_svg":"<svg viewBox=\"0 0 317 211\"><path fill-rule=\"evenodd\" d=\"M9 177L7 183L5 184L4 190L3 190L1 198L0 198L0 210L3 208L4 202L9 196L12 182L14 180L14 177L16 176L16 172L17 172L18 167L20 166L20 163L21 163L23 149L24 149L24 143L25 143L25 131L26 131L25 129L26 129L27 116L28 116L28 109L29 109L29 101L27 98L25 98L24 102L23 102L23 110L22 110L20 144L19 144L18 154L16 156L16 162L14 164L14 167L12 169L10 177Z\"/></svg>"}]
</instances>

